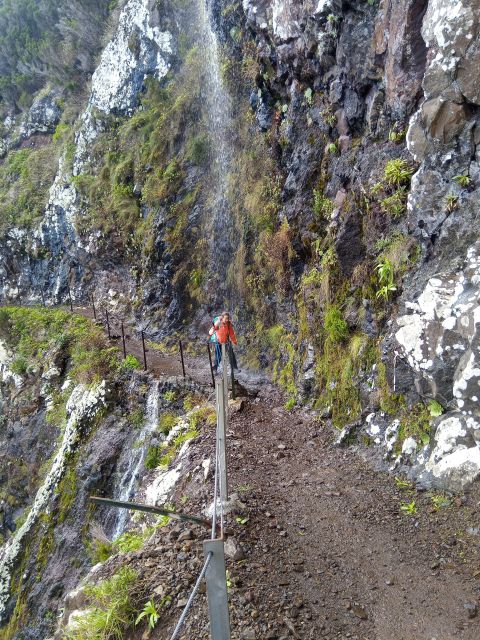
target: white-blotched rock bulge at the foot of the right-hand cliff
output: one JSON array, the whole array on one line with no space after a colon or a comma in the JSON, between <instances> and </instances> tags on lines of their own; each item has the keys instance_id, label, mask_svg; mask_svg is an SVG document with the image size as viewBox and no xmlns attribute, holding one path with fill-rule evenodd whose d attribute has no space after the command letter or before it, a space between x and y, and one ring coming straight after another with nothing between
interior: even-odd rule
<instances>
[{"instance_id":1,"label":"white-blotched rock bulge at the foot of the right-hand cliff","mask_svg":"<svg viewBox=\"0 0 480 640\"><path fill-rule=\"evenodd\" d=\"M461 490L480 475L479 245L463 268L430 278L406 304L395 338L424 397L449 409L437 420L431 449L420 454L418 479ZM424 470L422 467L424 466Z\"/></svg>"}]
</instances>

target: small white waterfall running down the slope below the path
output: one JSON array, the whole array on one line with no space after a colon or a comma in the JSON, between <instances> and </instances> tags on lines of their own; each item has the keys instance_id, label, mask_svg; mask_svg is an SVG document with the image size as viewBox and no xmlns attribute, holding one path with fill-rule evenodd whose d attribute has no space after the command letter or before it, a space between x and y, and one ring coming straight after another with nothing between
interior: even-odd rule
<instances>
[{"instance_id":1,"label":"small white waterfall running down the slope below the path","mask_svg":"<svg viewBox=\"0 0 480 640\"><path fill-rule=\"evenodd\" d=\"M142 444L137 449L127 446L122 455L120 468L122 467L122 463L126 465L126 468L120 477L119 482L115 485L114 496L117 500L128 502L135 495L135 485L143 470L145 456L148 450L148 442L144 441L147 440L148 436L157 429L159 403L159 383L158 380L156 380L152 383L148 392L145 421L140 433L138 434L138 438L136 438L136 440L140 440ZM129 512L126 509L118 510L118 516L113 530L114 540L123 533L125 525L127 524L128 516Z\"/></svg>"}]
</instances>

